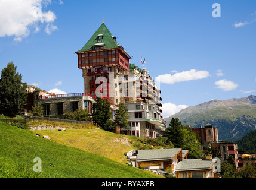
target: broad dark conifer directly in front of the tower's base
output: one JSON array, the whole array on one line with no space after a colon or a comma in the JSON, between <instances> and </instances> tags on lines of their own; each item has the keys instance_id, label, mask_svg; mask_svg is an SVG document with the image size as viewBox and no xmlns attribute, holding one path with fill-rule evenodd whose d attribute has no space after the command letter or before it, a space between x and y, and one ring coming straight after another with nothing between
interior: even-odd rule
<instances>
[{"instance_id":1,"label":"broad dark conifer directly in front of the tower's base","mask_svg":"<svg viewBox=\"0 0 256 190\"><path fill-rule=\"evenodd\" d=\"M101 129L105 129L107 121L111 118L109 100L97 97L92 109L94 112L91 114L91 117L94 124L100 126Z\"/></svg>"}]
</instances>

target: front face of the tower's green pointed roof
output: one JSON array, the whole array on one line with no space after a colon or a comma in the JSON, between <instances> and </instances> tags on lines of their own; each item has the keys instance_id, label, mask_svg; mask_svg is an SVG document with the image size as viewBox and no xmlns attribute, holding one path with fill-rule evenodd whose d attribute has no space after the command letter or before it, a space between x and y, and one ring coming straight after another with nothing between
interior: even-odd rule
<instances>
[{"instance_id":1,"label":"front face of the tower's green pointed roof","mask_svg":"<svg viewBox=\"0 0 256 190\"><path fill-rule=\"evenodd\" d=\"M103 36L102 39L98 39L98 36ZM102 40L102 42L98 41ZM113 39L113 35L110 33L109 29L107 29L106 25L104 23L101 24L101 26L98 28L97 31L92 35L90 40L82 47L81 50L78 50L78 52L85 52L92 50L92 45L102 45L104 44L104 49L110 49L110 48L118 48L118 43Z\"/></svg>"}]
</instances>

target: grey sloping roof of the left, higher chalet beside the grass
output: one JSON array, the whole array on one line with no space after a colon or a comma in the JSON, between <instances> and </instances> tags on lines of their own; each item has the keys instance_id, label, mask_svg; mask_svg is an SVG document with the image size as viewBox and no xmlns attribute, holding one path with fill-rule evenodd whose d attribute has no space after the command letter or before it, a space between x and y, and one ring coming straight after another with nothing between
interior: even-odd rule
<instances>
[{"instance_id":1,"label":"grey sloping roof of the left, higher chalet beside the grass","mask_svg":"<svg viewBox=\"0 0 256 190\"><path fill-rule=\"evenodd\" d=\"M181 148L138 150L137 162L153 160L172 160Z\"/></svg>"}]
</instances>

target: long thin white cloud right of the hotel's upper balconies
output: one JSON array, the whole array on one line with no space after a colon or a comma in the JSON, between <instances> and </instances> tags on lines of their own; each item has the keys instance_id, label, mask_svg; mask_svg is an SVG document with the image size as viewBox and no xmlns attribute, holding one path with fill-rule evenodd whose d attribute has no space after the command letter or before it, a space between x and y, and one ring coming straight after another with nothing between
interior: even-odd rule
<instances>
[{"instance_id":1,"label":"long thin white cloud right of the hotel's upper balconies","mask_svg":"<svg viewBox=\"0 0 256 190\"><path fill-rule=\"evenodd\" d=\"M174 75L159 75L156 77L156 81L166 84L174 84L183 81L198 80L209 76L210 74L208 71L196 71L195 69L191 69L190 71L177 72Z\"/></svg>"}]
</instances>

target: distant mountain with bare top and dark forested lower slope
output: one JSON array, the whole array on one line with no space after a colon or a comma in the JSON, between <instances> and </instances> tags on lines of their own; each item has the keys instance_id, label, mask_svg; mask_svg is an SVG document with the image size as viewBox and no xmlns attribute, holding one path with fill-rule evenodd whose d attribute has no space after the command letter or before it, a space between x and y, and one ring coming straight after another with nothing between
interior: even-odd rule
<instances>
[{"instance_id":1,"label":"distant mountain with bare top and dark forested lower slope","mask_svg":"<svg viewBox=\"0 0 256 190\"><path fill-rule=\"evenodd\" d=\"M224 141L242 138L256 126L256 96L240 99L211 100L196 106L187 107L164 120L179 118L183 125L193 128L210 123L218 128L218 137Z\"/></svg>"}]
</instances>

